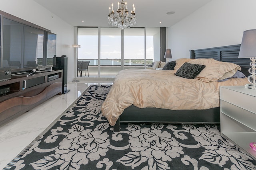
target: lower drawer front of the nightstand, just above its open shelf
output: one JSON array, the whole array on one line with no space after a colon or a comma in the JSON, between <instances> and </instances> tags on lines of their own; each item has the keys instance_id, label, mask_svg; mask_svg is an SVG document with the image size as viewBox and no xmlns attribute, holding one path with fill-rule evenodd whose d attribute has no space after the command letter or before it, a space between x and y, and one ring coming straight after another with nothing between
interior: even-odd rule
<instances>
[{"instance_id":1,"label":"lower drawer front of the nightstand, just above its open shelf","mask_svg":"<svg viewBox=\"0 0 256 170\"><path fill-rule=\"evenodd\" d=\"M256 131L256 113L252 113L238 106L220 100L220 112L232 117L236 121Z\"/></svg>"}]
</instances>

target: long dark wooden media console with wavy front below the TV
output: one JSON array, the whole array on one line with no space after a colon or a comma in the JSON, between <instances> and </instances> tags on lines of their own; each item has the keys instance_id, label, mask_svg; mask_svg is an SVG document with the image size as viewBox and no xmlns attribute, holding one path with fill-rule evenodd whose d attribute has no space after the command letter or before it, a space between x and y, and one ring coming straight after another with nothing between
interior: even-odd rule
<instances>
[{"instance_id":1,"label":"long dark wooden media console with wavy front below the TV","mask_svg":"<svg viewBox=\"0 0 256 170\"><path fill-rule=\"evenodd\" d=\"M1 81L0 88L10 88L10 92L0 95L0 124L2 124L56 94L61 95L62 70L40 72L30 76L15 75L10 80Z\"/></svg>"}]
</instances>

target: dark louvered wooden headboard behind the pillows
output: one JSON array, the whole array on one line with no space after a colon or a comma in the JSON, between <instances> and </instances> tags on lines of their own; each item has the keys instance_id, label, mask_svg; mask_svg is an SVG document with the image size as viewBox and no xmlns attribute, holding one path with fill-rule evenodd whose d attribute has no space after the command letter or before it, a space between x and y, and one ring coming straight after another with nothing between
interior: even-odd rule
<instances>
[{"instance_id":1,"label":"dark louvered wooden headboard behind the pillows","mask_svg":"<svg viewBox=\"0 0 256 170\"><path fill-rule=\"evenodd\" d=\"M250 68L251 61L248 58L238 59L239 50L240 44L223 47L214 47L208 49L190 50L190 58L212 58L218 61L235 63L241 66L241 72L243 72L246 76L249 76L250 73L248 72L248 69Z\"/></svg>"}]
</instances>

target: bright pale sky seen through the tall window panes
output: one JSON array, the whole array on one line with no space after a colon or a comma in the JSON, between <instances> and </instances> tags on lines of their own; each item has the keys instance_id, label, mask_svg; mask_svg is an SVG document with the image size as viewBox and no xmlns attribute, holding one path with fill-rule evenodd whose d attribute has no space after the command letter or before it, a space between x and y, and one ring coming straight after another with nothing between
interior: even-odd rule
<instances>
[{"instance_id":1,"label":"bright pale sky seen through the tall window panes","mask_svg":"<svg viewBox=\"0 0 256 170\"><path fill-rule=\"evenodd\" d=\"M98 35L79 35L78 59L98 59ZM121 36L100 37L101 59L121 59ZM147 59L153 59L153 36L147 36ZM124 59L144 59L144 36L124 36Z\"/></svg>"}]
</instances>

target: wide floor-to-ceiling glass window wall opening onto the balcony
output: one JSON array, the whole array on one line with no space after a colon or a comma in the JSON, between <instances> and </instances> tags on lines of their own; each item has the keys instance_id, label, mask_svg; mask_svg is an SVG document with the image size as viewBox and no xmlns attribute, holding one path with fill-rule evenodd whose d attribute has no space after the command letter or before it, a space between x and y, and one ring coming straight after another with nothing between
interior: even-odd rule
<instances>
[{"instance_id":1,"label":"wide floor-to-ceiling glass window wall opening onto the balcony","mask_svg":"<svg viewBox=\"0 0 256 170\"><path fill-rule=\"evenodd\" d=\"M78 44L78 62L90 61L90 76L116 76L160 60L160 28L78 27Z\"/></svg>"}]
</instances>

